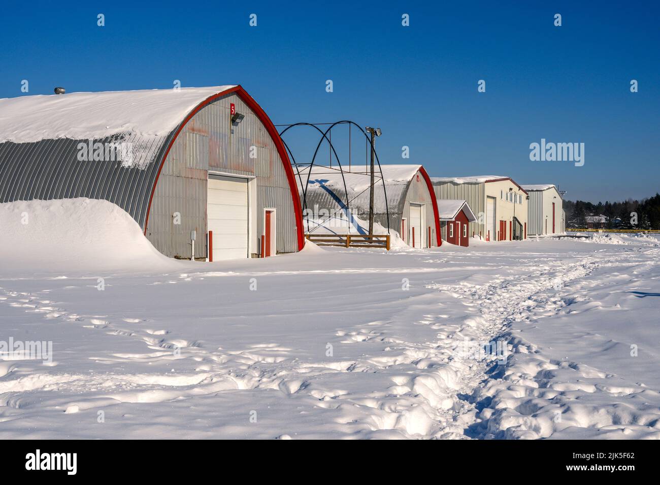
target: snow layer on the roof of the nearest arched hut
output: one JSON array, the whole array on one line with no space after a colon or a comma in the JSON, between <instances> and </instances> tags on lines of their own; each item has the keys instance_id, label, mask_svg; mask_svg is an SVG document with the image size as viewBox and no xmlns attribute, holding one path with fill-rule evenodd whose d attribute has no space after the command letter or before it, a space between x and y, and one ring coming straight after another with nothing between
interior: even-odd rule
<instances>
[{"instance_id":1,"label":"snow layer on the roof of the nearest arched hut","mask_svg":"<svg viewBox=\"0 0 660 485\"><path fill-rule=\"evenodd\" d=\"M131 131L164 137L203 100L234 86L69 93L0 99L0 143L101 139Z\"/></svg>"}]
</instances>

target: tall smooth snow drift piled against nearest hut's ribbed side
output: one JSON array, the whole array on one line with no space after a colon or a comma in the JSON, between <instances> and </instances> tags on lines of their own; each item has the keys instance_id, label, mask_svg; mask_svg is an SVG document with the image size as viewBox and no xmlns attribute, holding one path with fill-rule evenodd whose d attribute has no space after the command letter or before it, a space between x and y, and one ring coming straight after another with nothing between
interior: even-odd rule
<instances>
[{"instance_id":1,"label":"tall smooth snow drift piled against nearest hut's ribbed side","mask_svg":"<svg viewBox=\"0 0 660 485\"><path fill-rule=\"evenodd\" d=\"M0 204L0 268L75 272L172 268L135 220L106 200L31 200Z\"/></svg>"}]
</instances>

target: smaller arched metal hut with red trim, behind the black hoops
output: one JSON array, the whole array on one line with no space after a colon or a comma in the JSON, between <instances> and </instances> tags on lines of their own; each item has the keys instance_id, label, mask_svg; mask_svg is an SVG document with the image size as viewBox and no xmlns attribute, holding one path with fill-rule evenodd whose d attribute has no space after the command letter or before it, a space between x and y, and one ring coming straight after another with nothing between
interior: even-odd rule
<instances>
[{"instance_id":1,"label":"smaller arched metal hut with red trim, behind the black hoops","mask_svg":"<svg viewBox=\"0 0 660 485\"><path fill-rule=\"evenodd\" d=\"M438 203L424 167L381 165L380 168L376 167L374 172L374 223L380 226L378 231L386 232L389 226L415 248L440 246ZM303 217L308 225L306 231L367 234L370 173L356 167L342 172L339 168L319 165L311 170L310 173L309 166L300 167L296 175L301 203L306 203ZM307 195L303 200L305 187Z\"/></svg>"}]
</instances>

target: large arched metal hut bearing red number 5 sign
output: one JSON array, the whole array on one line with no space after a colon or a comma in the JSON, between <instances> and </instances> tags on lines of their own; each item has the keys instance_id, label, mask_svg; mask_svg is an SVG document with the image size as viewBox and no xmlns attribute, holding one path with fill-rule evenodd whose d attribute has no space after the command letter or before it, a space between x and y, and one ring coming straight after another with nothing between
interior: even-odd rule
<instances>
[{"instance_id":1,"label":"large arched metal hut bearing red number 5 sign","mask_svg":"<svg viewBox=\"0 0 660 485\"><path fill-rule=\"evenodd\" d=\"M0 202L78 197L119 205L170 257L304 244L282 140L240 86L1 99Z\"/></svg>"}]
</instances>

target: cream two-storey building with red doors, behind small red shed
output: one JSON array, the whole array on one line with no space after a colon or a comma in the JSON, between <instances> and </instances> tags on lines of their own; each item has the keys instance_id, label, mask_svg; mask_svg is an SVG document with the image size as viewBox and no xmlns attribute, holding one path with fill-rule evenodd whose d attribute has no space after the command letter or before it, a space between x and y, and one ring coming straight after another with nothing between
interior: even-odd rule
<instances>
[{"instance_id":1,"label":"cream two-storey building with red doors, behind small red shed","mask_svg":"<svg viewBox=\"0 0 660 485\"><path fill-rule=\"evenodd\" d=\"M466 200L477 220L469 236L486 241L527 238L527 192L512 178L498 175L432 178L438 200Z\"/></svg>"}]
</instances>

